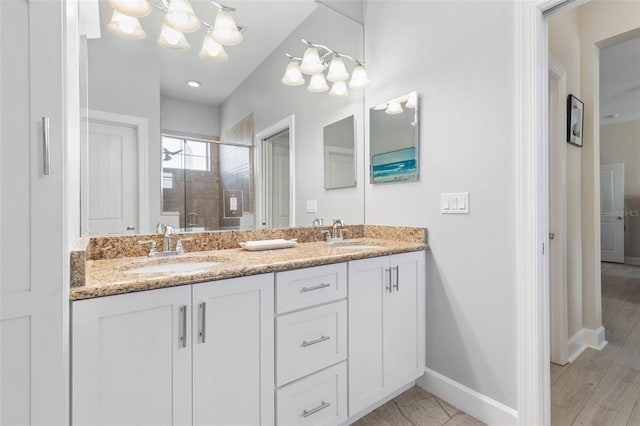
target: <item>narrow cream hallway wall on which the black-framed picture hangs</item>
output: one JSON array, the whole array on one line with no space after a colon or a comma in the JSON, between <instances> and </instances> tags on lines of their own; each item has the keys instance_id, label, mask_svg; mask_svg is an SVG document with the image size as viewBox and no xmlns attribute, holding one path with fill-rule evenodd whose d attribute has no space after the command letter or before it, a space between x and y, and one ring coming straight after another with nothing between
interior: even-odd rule
<instances>
[{"instance_id":1,"label":"narrow cream hallway wall on which the black-framed picture hangs","mask_svg":"<svg viewBox=\"0 0 640 426\"><path fill-rule=\"evenodd\" d=\"M567 71L567 94L580 94L580 34L578 9L549 18L549 53ZM563 111L560 120L566 120ZM582 329L581 148L567 144L567 313L568 336Z\"/></svg>"}]
</instances>

